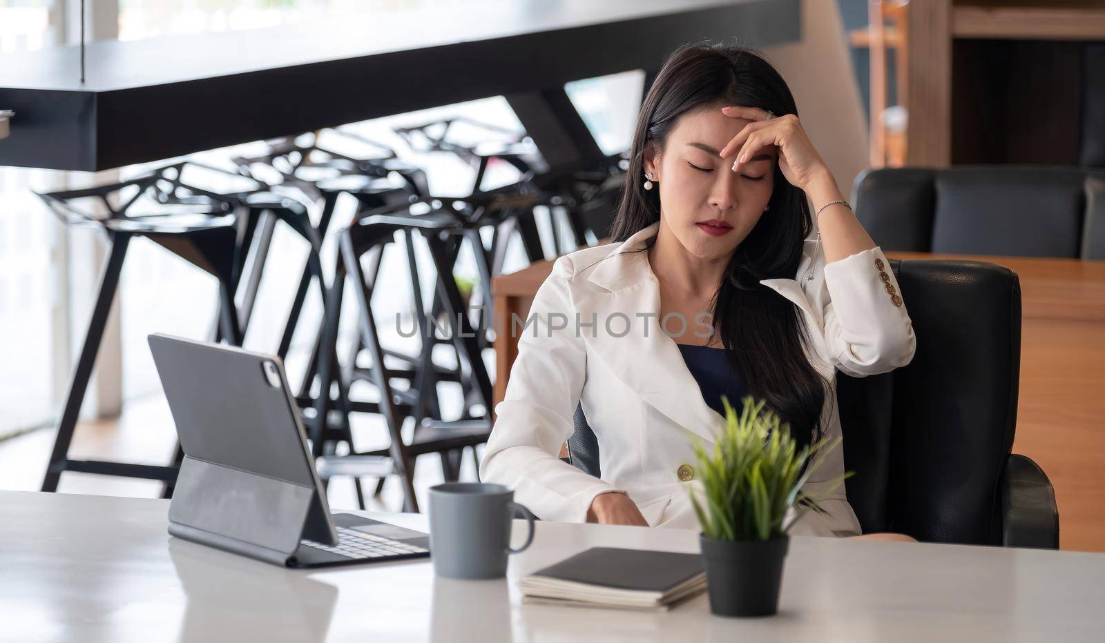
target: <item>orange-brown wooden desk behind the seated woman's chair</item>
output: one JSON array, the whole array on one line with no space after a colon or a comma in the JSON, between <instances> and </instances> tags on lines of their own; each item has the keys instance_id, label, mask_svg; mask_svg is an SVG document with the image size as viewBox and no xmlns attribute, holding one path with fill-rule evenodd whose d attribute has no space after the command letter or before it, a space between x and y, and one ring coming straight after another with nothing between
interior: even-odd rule
<instances>
[{"instance_id":1,"label":"orange-brown wooden desk behind the seated woman's chair","mask_svg":"<svg viewBox=\"0 0 1105 643\"><path fill-rule=\"evenodd\" d=\"M1021 282L1021 384L1013 451L1036 461L1055 487L1060 546L1105 551L1105 262L890 252L901 260L997 263ZM552 262L495 278L495 320L525 318ZM908 298L906 306L908 306ZM495 402L517 342L495 339Z\"/></svg>"}]
</instances>

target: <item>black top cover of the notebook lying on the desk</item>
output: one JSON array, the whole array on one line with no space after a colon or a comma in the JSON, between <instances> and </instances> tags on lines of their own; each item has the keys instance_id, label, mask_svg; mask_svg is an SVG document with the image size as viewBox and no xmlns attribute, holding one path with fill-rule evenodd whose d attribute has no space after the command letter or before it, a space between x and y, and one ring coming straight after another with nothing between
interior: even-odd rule
<instances>
[{"instance_id":1,"label":"black top cover of the notebook lying on the desk","mask_svg":"<svg viewBox=\"0 0 1105 643\"><path fill-rule=\"evenodd\" d=\"M617 589L666 592L702 572L702 556L698 554L592 547L533 576Z\"/></svg>"}]
</instances>

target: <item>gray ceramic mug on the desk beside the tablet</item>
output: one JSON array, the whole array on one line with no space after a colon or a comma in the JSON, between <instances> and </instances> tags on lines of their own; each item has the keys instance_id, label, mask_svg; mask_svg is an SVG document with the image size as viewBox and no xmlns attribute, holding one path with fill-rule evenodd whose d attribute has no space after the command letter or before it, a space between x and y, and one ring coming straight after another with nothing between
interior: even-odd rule
<instances>
[{"instance_id":1,"label":"gray ceramic mug on the desk beside the tablet","mask_svg":"<svg viewBox=\"0 0 1105 643\"><path fill-rule=\"evenodd\" d=\"M529 523L526 542L511 549L511 518ZM534 515L503 485L445 483L430 487L430 558L444 578L503 578L508 554L534 541Z\"/></svg>"}]
</instances>

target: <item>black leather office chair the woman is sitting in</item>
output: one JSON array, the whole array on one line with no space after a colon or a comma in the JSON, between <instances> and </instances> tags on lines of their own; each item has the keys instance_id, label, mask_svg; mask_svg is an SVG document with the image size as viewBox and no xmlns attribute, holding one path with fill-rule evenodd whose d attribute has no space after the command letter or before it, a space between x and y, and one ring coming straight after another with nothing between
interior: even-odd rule
<instances>
[{"instance_id":1,"label":"black leather office chair the woman is sitting in","mask_svg":"<svg viewBox=\"0 0 1105 643\"><path fill-rule=\"evenodd\" d=\"M979 262L891 262L917 336L913 361L836 383L849 502L864 533L918 540L1059 547L1048 476L1011 454L1021 293L1017 274ZM599 475L582 409L571 463Z\"/></svg>"}]
</instances>

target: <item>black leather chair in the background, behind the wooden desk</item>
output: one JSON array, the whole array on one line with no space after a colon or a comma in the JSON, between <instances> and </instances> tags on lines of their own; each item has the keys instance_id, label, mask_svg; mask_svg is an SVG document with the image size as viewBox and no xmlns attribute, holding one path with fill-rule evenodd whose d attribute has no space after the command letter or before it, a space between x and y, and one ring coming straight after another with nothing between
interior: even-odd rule
<instances>
[{"instance_id":1,"label":"black leather chair in the background, behind the wooden desk","mask_svg":"<svg viewBox=\"0 0 1105 643\"><path fill-rule=\"evenodd\" d=\"M871 169L852 204L885 251L1105 260L1103 170Z\"/></svg>"}]
</instances>

